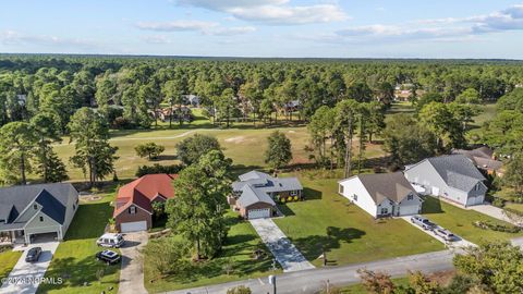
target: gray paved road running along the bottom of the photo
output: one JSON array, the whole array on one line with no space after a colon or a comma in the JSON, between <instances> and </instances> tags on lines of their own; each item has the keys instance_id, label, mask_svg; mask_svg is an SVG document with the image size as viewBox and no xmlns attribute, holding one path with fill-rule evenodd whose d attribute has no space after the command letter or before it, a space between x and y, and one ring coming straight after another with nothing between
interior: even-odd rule
<instances>
[{"instance_id":1,"label":"gray paved road running along the bottom of the photo","mask_svg":"<svg viewBox=\"0 0 523 294\"><path fill-rule=\"evenodd\" d=\"M368 270L387 271L392 277L402 277L408 270L421 270L425 273L452 269L451 250L435 252L406 257L398 257L374 262L350 265L344 267L332 267L321 269L311 269L297 272L287 272L277 277L279 294L293 293L317 293L329 281L333 285L348 285L358 283L360 277L357 270L366 268ZM210 285L207 287L186 289L181 291L168 292L169 294L222 294L227 290L236 285L246 285L253 293L272 293L272 285L267 283L267 278L250 279L240 282Z\"/></svg>"}]
</instances>

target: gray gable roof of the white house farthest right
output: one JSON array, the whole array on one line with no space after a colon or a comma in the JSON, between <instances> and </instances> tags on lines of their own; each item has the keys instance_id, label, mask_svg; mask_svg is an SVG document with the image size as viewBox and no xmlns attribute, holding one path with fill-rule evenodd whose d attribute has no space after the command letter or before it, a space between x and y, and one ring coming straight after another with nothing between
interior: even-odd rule
<instances>
[{"instance_id":1,"label":"gray gable roof of the white house farthest right","mask_svg":"<svg viewBox=\"0 0 523 294\"><path fill-rule=\"evenodd\" d=\"M450 187L471 191L485 176L474 167L471 159L463 155L450 155L427 158L427 160ZM423 161L422 161L423 162Z\"/></svg>"}]
</instances>

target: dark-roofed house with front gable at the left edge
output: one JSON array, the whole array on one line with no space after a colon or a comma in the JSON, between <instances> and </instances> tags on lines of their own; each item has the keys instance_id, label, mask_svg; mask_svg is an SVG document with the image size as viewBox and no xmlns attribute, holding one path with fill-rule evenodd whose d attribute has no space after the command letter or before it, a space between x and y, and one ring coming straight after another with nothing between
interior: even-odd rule
<instances>
[{"instance_id":1,"label":"dark-roofed house with front gable at the left edge","mask_svg":"<svg viewBox=\"0 0 523 294\"><path fill-rule=\"evenodd\" d=\"M70 183L0 188L0 243L29 244L42 235L61 241L77 208Z\"/></svg>"}]
</instances>

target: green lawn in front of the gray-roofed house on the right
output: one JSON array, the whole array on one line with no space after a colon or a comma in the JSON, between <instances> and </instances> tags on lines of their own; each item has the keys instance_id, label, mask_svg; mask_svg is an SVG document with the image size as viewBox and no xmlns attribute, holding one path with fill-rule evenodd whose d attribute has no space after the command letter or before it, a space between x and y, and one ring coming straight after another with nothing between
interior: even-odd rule
<instances>
[{"instance_id":1,"label":"green lawn in front of the gray-roofed house on the right","mask_svg":"<svg viewBox=\"0 0 523 294\"><path fill-rule=\"evenodd\" d=\"M510 240L523 235L523 233L511 234L476 228L472 223L478 220L503 224L508 223L474 210L461 209L430 196L425 197L423 212L425 217L437 224L476 244L482 241Z\"/></svg>"}]
</instances>

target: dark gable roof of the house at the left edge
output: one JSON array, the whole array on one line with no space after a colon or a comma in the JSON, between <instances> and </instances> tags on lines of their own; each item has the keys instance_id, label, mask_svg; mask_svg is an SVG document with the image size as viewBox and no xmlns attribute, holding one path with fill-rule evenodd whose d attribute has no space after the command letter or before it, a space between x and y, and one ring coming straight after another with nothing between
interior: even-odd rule
<instances>
[{"instance_id":1,"label":"dark gable roof of the house at the left edge","mask_svg":"<svg viewBox=\"0 0 523 294\"><path fill-rule=\"evenodd\" d=\"M71 194L77 194L70 183L20 185L0 188L0 219L7 224L0 229L19 228L14 221L34 200L42 206L42 212L63 224ZM23 223L22 223L23 226Z\"/></svg>"}]
</instances>

